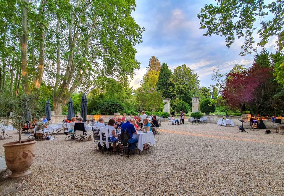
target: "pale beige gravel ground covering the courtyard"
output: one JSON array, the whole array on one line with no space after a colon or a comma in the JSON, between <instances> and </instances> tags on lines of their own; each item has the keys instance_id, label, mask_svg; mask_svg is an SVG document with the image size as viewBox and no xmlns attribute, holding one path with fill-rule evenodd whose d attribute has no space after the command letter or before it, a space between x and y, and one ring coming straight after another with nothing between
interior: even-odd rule
<instances>
[{"instance_id":1,"label":"pale beige gravel ground covering the courtyard","mask_svg":"<svg viewBox=\"0 0 284 196\"><path fill-rule=\"evenodd\" d=\"M283 135L215 124L162 128L154 148L129 159L93 152L93 141L64 141L63 134L36 142L32 174L12 180L6 172L0 194L284 195ZM16 131L11 135L0 144L16 141Z\"/></svg>"}]
</instances>

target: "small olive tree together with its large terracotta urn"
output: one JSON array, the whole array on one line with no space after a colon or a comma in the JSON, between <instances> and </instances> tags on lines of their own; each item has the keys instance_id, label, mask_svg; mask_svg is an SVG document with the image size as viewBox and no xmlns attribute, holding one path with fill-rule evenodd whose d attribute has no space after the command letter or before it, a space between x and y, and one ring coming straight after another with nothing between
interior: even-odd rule
<instances>
[{"instance_id":1,"label":"small olive tree together with its large terracotta urn","mask_svg":"<svg viewBox=\"0 0 284 196\"><path fill-rule=\"evenodd\" d=\"M30 115L36 116L38 111L38 98L34 95L22 96L6 100L12 105L12 125L19 131L19 140L3 144L7 167L12 171L10 178L18 178L31 173L28 169L35 157L35 141L22 140L21 128L30 121Z\"/></svg>"}]
</instances>

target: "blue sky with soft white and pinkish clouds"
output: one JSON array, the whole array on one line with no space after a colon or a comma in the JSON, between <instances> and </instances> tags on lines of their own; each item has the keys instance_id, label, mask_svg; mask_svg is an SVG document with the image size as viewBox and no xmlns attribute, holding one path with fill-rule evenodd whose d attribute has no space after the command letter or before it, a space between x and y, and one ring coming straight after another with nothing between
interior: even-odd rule
<instances>
[{"instance_id":1,"label":"blue sky with soft white and pinkish clouds","mask_svg":"<svg viewBox=\"0 0 284 196\"><path fill-rule=\"evenodd\" d=\"M199 76L200 86L216 84L211 76L214 69L220 73L229 72L235 64L250 67L254 52L240 56L243 40L236 38L235 43L227 48L225 37L218 35L203 36L206 30L201 30L197 13L205 4L215 4L215 1L198 0L136 0L137 7L132 13L135 21L145 28L142 43L135 46L135 58L141 62L140 69L135 70L130 87L137 89L139 81L146 74L146 67L152 55L161 64L166 62L171 70L179 65L187 65ZM260 24L255 23L256 27ZM255 41L259 40L254 33ZM266 49L274 52L276 38L271 38ZM254 44L256 46L256 44ZM260 52L261 48L258 48Z\"/></svg>"}]
</instances>

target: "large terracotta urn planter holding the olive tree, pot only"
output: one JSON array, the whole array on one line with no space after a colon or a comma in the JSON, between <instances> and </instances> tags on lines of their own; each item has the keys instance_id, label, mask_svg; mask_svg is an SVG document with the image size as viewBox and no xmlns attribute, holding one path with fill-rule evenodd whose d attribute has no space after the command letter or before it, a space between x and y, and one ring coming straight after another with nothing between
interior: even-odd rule
<instances>
[{"instance_id":1,"label":"large terracotta urn planter holding the olive tree, pot only","mask_svg":"<svg viewBox=\"0 0 284 196\"><path fill-rule=\"evenodd\" d=\"M35 142L23 140L21 143L17 141L2 145L5 148L6 165L12 171L10 178L19 178L32 173L28 169L35 157Z\"/></svg>"}]
</instances>

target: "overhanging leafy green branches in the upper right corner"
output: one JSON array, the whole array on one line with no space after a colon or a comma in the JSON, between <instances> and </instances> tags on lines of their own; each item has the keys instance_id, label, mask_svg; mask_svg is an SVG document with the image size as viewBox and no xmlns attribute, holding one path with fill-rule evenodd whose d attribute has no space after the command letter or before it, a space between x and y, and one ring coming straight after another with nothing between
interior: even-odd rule
<instances>
[{"instance_id":1,"label":"overhanging leafy green branches in the upper right corner","mask_svg":"<svg viewBox=\"0 0 284 196\"><path fill-rule=\"evenodd\" d=\"M217 0L216 0L217 1ZM261 41L259 46L265 46L268 39L276 36L278 51L283 50L283 1L273 1L266 5L263 0L254 1L217 1L217 5L206 4L197 17L200 19L200 28L207 28L204 36L219 34L226 37L227 47L234 43L235 38L245 38L241 55L251 53L256 28L254 23L261 18L262 27L257 31ZM273 17L266 17L268 13ZM272 18L272 20L265 20Z\"/></svg>"}]
</instances>

